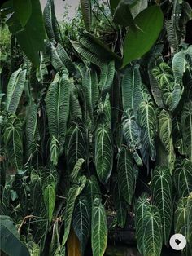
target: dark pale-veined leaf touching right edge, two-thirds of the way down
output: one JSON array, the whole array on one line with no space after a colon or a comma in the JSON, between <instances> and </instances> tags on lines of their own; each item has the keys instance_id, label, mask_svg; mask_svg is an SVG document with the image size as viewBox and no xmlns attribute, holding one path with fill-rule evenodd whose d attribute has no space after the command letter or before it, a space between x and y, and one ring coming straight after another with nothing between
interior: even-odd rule
<instances>
[{"instance_id":1,"label":"dark pale-veined leaf touching right edge, two-thirds of the way down","mask_svg":"<svg viewBox=\"0 0 192 256\"><path fill-rule=\"evenodd\" d=\"M192 163L188 159L177 158L175 163L175 170L173 173L175 187L178 196L190 196L192 192Z\"/></svg>"}]
</instances>

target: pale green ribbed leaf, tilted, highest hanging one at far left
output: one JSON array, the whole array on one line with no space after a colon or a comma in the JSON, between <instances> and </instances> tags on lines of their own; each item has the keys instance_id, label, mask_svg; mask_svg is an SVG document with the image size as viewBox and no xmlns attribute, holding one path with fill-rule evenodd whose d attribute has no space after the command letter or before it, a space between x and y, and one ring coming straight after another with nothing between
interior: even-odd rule
<instances>
[{"instance_id":1,"label":"pale green ribbed leaf, tilted, highest hanging one at far left","mask_svg":"<svg viewBox=\"0 0 192 256\"><path fill-rule=\"evenodd\" d=\"M20 98L24 90L24 82L26 80L26 69L19 68L11 74L7 86L7 103L8 112L15 113L20 103Z\"/></svg>"}]
</instances>

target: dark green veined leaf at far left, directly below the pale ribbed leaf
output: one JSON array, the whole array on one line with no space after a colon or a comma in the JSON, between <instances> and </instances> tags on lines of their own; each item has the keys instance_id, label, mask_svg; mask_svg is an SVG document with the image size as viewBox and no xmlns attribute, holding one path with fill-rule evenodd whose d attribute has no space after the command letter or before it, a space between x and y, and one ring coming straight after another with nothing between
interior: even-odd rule
<instances>
[{"instance_id":1,"label":"dark green veined leaf at far left, directly below the pale ribbed leaf","mask_svg":"<svg viewBox=\"0 0 192 256\"><path fill-rule=\"evenodd\" d=\"M15 116L9 117L3 136L7 148L8 161L13 168L20 170L23 166L22 122Z\"/></svg>"}]
</instances>

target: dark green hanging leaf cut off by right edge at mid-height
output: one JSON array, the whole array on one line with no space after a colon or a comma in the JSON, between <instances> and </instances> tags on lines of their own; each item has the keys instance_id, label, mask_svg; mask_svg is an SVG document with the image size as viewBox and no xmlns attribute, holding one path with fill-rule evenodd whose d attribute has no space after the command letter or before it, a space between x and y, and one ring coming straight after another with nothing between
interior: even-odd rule
<instances>
[{"instance_id":1,"label":"dark green hanging leaf cut off by right edge at mid-height","mask_svg":"<svg viewBox=\"0 0 192 256\"><path fill-rule=\"evenodd\" d=\"M192 161L192 102L184 105L181 113L181 128L185 153Z\"/></svg>"}]
</instances>

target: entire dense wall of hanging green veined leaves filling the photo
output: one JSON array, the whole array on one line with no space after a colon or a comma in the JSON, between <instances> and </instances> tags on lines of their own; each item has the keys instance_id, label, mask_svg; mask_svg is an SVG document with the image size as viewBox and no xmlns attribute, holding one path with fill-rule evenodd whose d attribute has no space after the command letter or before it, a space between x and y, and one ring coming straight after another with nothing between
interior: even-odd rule
<instances>
[{"instance_id":1,"label":"entire dense wall of hanging green veined leaves filling the photo","mask_svg":"<svg viewBox=\"0 0 192 256\"><path fill-rule=\"evenodd\" d=\"M33 42L40 35L30 34L33 49L22 41L34 17L15 17L15 5L7 20L11 47L23 52L2 81L0 218L12 247L5 238L1 249L71 256L90 245L102 256L115 210L121 228L134 216L142 255L161 255L173 233L185 236L182 254L191 255L190 5L92 4L94 15L91 1L81 0L85 29L72 22L64 30L48 0L40 52Z\"/></svg>"}]
</instances>

